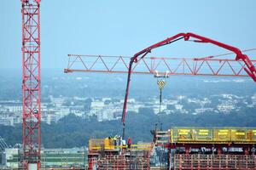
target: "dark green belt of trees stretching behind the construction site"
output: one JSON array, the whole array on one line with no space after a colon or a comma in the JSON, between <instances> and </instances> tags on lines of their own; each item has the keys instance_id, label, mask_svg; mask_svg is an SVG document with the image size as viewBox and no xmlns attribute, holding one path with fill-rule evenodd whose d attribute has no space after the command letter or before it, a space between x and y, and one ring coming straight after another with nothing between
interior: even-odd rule
<instances>
[{"instance_id":1,"label":"dark green belt of trees stretching behind the construction site","mask_svg":"<svg viewBox=\"0 0 256 170\"><path fill-rule=\"evenodd\" d=\"M256 127L255 108L245 108L230 114L207 112L199 115L173 113L155 115L151 109L142 108L139 113L128 112L126 116L126 137L132 142L149 142L153 139L150 130L155 124L163 129L170 127ZM158 127L160 128L160 127ZM42 144L45 148L72 148L88 145L90 138L106 138L121 135L120 120L98 122L96 116L87 119L70 114L60 121L42 123ZM21 125L0 126L0 136L7 144L21 144Z\"/></svg>"}]
</instances>

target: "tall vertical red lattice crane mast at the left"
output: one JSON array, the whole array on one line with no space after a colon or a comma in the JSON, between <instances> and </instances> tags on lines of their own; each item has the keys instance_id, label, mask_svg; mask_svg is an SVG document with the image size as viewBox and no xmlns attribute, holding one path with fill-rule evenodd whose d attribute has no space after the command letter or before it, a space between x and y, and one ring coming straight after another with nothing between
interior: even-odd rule
<instances>
[{"instance_id":1,"label":"tall vertical red lattice crane mast at the left","mask_svg":"<svg viewBox=\"0 0 256 170\"><path fill-rule=\"evenodd\" d=\"M41 77L40 77L40 0L22 3L22 164L40 167Z\"/></svg>"}]
</instances>

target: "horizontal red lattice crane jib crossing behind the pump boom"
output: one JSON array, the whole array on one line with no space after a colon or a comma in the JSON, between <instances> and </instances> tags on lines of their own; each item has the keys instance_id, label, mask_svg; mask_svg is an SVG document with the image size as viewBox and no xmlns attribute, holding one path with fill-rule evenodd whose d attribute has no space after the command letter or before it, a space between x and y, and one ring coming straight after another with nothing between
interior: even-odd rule
<instances>
[{"instance_id":1,"label":"horizontal red lattice crane jib crossing behind the pump boom","mask_svg":"<svg viewBox=\"0 0 256 170\"><path fill-rule=\"evenodd\" d=\"M68 65L64 71L128 73L130 59L125 56L68 54ZM256 59L251 61L253 65L256 64ZM155 74L158 71L160 75L169 76L249 77L244 71L245 66L241 60L236 59L150 57L138 60L131 72Z\"/></svg>"}]
</instances>

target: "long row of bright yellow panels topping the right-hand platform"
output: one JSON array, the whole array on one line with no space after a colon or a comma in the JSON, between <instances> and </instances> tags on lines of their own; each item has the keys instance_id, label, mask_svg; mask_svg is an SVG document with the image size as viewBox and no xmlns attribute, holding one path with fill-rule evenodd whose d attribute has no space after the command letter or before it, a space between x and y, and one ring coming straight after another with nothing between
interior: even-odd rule
<instances>
[{"instance_id":1,"label":"long row of bright yellow panels topping the right-hand platform","mask_svg":"<svg viewBox=\"0 0 256 170\"><path fill-rule=\"evenodd\" d=\"M256 143L256 127L172 127L172 143Z\"/></svg>"}]
</instances>

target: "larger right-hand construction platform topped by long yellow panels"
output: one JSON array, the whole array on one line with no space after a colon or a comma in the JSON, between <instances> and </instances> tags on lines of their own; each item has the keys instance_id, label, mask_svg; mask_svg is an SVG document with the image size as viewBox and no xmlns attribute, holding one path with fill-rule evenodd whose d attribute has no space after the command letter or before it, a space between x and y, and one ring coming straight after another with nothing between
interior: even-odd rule
<instances>
[{"instance_id":1,"label":"larger right-hand construction platform topped by long yellow panels","mask_svg":"<svg viewBox=\"0 0 256 170\"><path fill-rule=\"evenodd\" d=\"M256 169L255 127L172 127L155 131L166 169Z\"/></svg>"}]
</instances>

